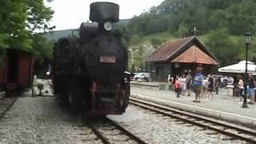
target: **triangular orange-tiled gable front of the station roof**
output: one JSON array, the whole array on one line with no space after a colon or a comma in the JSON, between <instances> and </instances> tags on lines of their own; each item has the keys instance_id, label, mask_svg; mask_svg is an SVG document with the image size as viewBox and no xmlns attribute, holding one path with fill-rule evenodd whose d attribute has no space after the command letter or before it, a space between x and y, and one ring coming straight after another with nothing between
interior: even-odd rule
<instances>
[{"instance_id":1,"label":"triangular orange-tiled gable front of the station roof","mask_svg":"<svg viewBox=\"0 0 256 144\"><path fill-rule=\"evenodd\" d=\"M174 58L171 62L184 62L184 63L201 63L208 65L218 65L214 58L210 58L208 54L200 50L197 46L191 46L184 53Z\"/></svg>"}]
</instances>

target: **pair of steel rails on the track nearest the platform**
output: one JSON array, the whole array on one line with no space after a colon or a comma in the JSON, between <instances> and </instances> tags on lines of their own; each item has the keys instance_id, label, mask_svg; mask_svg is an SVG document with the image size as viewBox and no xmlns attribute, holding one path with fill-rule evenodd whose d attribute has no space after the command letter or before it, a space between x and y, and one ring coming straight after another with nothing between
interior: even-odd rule
<instances>
[{"instance_id":1,"label":"pair of steel rails on the track nearest the platform","mask_svg":"<svg viewBox=\"0 0 256 144\"><path fill-rule=\"evenodd\" d=\"M152 102L145 102L145 101L142 101L142 100L138 100L136 98L130 98L130 103L135 105L135 106L140 106L140 107L145 108L147 110L152 110L156 113L164 114L164 115L172 117L172 118L182 119L182 121L184 121L184 122L193 123L194 125L197 125L197 126L202 126L204 128L209 128L211 130L218 131L219 133L226 134L226 135L228 135L230 137L233 137L233 138L238 138L238 139L244 140L246 142L250 142L250 143L256 143L256 139L255 139L256 138L256 133L254 131L243 130L243 129L240 129L240 128L235 127L235 126L230 126L230 125L226 125L224 123L213 121L213 120L210 120L210 119L207 119L207 118L202 118L202 116L196 116L194 114L187 114L187 113L182 112L180 110L174 110L174 108L166 108L164 106L159 106L159 105L157 105L155 103L152 103ZM142 104L140 104L140 103L142 103ZM148 106L154 106L155 108L158 108L159 110L155 110L154 108L150 108ZM181 116L178 116L178 115L175 115L175 114L170 114L170 113L167 113L165 111L160 111L160 110L165 110L167 112L181 114L182 116L194 118L194 120L190 120L190 118L182 118ZM212 124L222 126L225 129L216 128L214 126L209 126L209 124L202 123L202 122L197 122L197 121L210 122ZM228 131L226 131L226 128L237 130L239 134L234 134L234 133L228 132ZM248 138L246 136L242 136L241 133L250 134L250 136L253 136L254 138Z\"/></svg>"}]
</instances>

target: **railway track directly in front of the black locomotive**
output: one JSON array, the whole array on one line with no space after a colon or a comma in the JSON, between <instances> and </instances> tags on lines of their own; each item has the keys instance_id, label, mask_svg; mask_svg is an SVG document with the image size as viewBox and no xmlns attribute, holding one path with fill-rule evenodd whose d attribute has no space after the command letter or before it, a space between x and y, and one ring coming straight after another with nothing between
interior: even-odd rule
<instances>
[{"instance_id":1,"label":"railway track directly in front of the black locomotive","mask_svg":"<svg viewBox=\"0 0 256 144\"><path fill-rule=\"evenodd\" d=\"M105 144L110 143L139 143L146 144L142 139L130 133L118 123L110 118L100 118L99 121L90 122L89 127L94 131L94 134L101 138Z\"/></svg>"}]
</instances>

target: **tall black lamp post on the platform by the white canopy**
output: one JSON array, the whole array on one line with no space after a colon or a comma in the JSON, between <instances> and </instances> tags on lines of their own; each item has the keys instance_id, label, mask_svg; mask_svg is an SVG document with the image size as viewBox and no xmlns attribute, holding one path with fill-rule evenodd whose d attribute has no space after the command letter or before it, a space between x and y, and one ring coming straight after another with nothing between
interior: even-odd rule
<instances>
[{"instance_id":1,"label":"tall black lamp post on the platform by the white canopy","mask_svg":"<svg viewBox=\"0 0 256 144\"><path fill-rule=\"evenodd\" d=\"M247 106L247 84L248 84L248 74L247 74L247 61L248 61L248 46L250 45L250 38L251 34L250 31L246 31L245 34L245 44L246 44L246 73L245 73L245 78L244 78L244 97L243 97L243 103L242 103L242 108L248 108Z\"/></svg>"}]
</instances>

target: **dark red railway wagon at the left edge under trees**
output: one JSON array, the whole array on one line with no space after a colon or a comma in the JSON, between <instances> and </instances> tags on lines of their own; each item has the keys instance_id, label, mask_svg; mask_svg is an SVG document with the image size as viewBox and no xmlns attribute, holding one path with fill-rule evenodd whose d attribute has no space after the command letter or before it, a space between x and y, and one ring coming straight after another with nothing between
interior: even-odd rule
<instances>
[{"instance_id":1,"label":"dark red railway wagon at the left edge under trees","mask_svg":"<svg viewBox=\"0 0 256 144\"><path fill-rule=\"evenodd\" d=\"M0 67L0 86L6 91L25 90L32 84L32 54L16 49L6 51Z\"/></svg>"}]
</instances>

